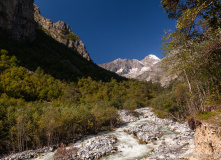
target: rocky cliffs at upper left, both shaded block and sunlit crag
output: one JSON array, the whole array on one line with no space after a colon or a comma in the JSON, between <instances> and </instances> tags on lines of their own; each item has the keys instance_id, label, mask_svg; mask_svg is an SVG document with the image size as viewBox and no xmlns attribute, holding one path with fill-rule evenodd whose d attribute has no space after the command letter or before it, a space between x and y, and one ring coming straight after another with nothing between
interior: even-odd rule
<instances>
[{"instance_id":1,"label":"rocky cliffs at upper left, both shaded block and sunlit crag","mask_svg":"<svg viewBox=\"0 0 221 160\"><path fill-rule=\"evenodd\" d=\"M83 42L71 32L71 27L63 21L53 23L40 14L34 0L0 1L0 31L8 33L13 40L32 42L36 39L36 29L42 29L58 42L91 60Z\"/></svg>"}]
</instances>

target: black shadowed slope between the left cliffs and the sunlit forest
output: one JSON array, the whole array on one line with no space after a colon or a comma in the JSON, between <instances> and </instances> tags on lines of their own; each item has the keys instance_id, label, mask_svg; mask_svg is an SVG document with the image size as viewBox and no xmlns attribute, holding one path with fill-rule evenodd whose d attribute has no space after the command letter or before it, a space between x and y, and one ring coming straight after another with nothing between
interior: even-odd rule
<instances>
[{"instance_id":1,"label":"black shadowed slope between the left cliffs and the sunlit forest","mask_svg":"<svg viewBox=\"0 0 221 160\"><path fill-rule=\"evenodd\" d=\"M12 41L4 32L1 32L0 36L0 48L9 51L10 55L15 55L20 64L31 71L40 67L47 74L67 81L77 81L78 78L88 76L103 81L109 81L112 77L117 80L124 79L86 60L41 30L37 30L36 40L32 43Z\"/></svg>"}]
</instances>

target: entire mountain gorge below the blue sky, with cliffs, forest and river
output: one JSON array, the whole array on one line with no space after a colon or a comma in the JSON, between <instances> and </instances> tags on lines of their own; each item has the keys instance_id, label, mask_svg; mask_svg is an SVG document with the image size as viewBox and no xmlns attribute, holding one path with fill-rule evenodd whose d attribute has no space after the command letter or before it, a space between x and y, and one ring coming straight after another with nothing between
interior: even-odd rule
<instances>
[{"instance_id":1,"label":"entire mountain gorge below the blue sky, with cliffs, forest and river","mask_svg":"<svg viewBox=\"0 0 221 160\"><path fill-rule=\"evenodd\" d=\"M18 152L8 159L47 159L54 151L49 159L106 159L111 153L120 160L132 159L131 154L133 159L163 160L179 159L184 152L187 157L180 158L188 159L193 131L197 160L204 153L205 160L215 154L220 159L221 29L198 33L197 39L191 39L191 31L183 35L185 25L194 24L186 24L186 18L210 6L208 1L187 0L184 14L177 16L184 16L184 22L178 21L182 32L171 33L172 41L163 45L170 56L100 65L68 24L44 18L33 2L0 1L0 159ZM173 16L177 8L172 2L161 1ZM182 9L184 1L177 3ZM212 16L221 8L218 1L215 5ZM204 23L211 27L207 15ZM97 137L101 131L110 136ZM88 135L96 137L85 139ZM30 157L28 150L35 150Z\"/></svg>"}]
</instances>

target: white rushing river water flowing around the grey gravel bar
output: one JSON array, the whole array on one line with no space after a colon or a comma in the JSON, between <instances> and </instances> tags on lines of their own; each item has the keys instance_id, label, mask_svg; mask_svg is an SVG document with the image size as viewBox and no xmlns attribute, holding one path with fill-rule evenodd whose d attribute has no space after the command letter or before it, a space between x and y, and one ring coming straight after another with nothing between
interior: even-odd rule
<instances>
[{"instance_id":1,"label":"white rushing river water flowing around the grey gravel bar","mask_svg":"<svg viewBox=\"0 0 221 160\"><path fill-rule=\"evenodd\" d=\"M160 125L151 122L151 118L155 117L153 113L150 111L149 108L144 108L142 110L143 115L139 117L139 120L135 122L130 122L127 123L119 128L117 128L115 131L106 131L106 132L101 132L96 136L101 136L101 135L114 135L117 138L117 143L114 144L115 147L118 148L118 151L112 155L106 156L101 158L101 160L139 160L144 157L148 157L148 155L151 153L151 151L162 147L165 145L167 142L171 142L174 137L177 136L177 132L172 131L169 129L166 125ZM147 118L144 118L147 117ZM138 139L132 135L128 134L125 132L125 130L151 123L152 125L159 125L160 126L160 133L161 137L157 139L156 141L150 142L148 144L139 144ZM95 136L91 135L86 137L86 139L93 138ZM75 143L75 147L81 147L82 142L78 141ZM37 159L44 159L44 160L50 160L53 159L54 153L47 153L46 155L39 156Z\"/></svg>"}]
</instances>

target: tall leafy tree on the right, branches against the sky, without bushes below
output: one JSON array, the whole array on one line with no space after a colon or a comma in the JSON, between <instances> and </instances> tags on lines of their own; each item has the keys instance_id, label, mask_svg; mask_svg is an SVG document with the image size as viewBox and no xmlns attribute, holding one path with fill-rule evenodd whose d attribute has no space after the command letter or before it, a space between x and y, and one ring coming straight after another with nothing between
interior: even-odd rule
<instances>
[{"instance_id":1,"label":"tall leafy tree on the right, branches against the sky, without bushes below","mask_svg":"<svg viewBox=\"0 0 221 160\"><path fill-rule=\"evenodd\" d=\"M186 79L189 105L202 112L206 97L215 94L220 101L221 2L162 0L161 4L169 18L177 20L175 32L163 37L163 67Z\"/></svg>"}]
</instances>

